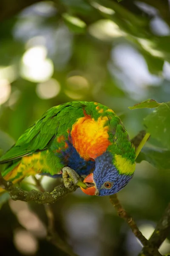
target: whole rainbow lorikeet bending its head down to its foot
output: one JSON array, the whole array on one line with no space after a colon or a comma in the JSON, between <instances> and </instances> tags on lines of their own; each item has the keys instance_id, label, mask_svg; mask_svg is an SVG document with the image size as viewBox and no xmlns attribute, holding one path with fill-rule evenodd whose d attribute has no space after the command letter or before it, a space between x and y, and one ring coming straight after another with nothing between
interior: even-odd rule
<instances>
[{"instance_id":1,"label":"whole rainbow lorikeet bending its head down to its foot","mask_svg":"<svg viewBox=\"0 0 170 256\"><path fill-rule=\"evenodd\" d=\"M68 102L49 109L1 158L17 183L29 175L63 176L70 188L80 176L88 195L112 195L133 177L135 148L121 120L97 102ZM3 189L1 189L3 191ZM1 191L0 191L1 192Z\"/></svg>"}]
</instances>

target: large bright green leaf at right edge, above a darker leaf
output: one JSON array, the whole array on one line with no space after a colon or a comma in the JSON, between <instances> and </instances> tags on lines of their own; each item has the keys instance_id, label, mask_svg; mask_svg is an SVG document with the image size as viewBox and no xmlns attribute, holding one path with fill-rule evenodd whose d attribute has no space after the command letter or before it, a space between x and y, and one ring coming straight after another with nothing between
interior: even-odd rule
<instances>
[{"instance_id":1,"label":"large bright green leaf at right edge, above a darker leaf","mask_svg":"<svg viewBox=\"0 0 170 256\"><path fill-rule=\"evenodd\" d=\"M156 110L146 116L144 125L151 137L170 149L170 102L161 103Z\"/></svg>"}]
</instances>

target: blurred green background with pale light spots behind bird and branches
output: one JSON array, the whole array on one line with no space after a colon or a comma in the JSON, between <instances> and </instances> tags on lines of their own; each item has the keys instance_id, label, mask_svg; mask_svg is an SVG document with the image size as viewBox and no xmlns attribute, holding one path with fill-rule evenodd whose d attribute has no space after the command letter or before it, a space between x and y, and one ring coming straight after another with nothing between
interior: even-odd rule
<instances>
[{"instance_id":1,"label":"blurred green background with pale light spots behind bird and branches","mask_svg":"<svg viewBox=\"0 0 170 256\"><path fill-rule=\"evenodd\" d=\"M69 101L107 105L131 138L142 130L150 110L127 107L148 98L170 100L169 8L167 0L2 0L1 154L48 108ZM31 178L23 186L33 188L29 183ZM56 183L42 179L47 190ZM143 161L118 194L147 238L169 201L169 187L169 172ZM136 256L141 250L108 197L90 197L77 189L53 209L56 230L80 256ZM0 256L65 256L46 241L46 224L43 206L3 204ZM170 253L168 239L160 252Z\"/></svg>"}]
</instances>

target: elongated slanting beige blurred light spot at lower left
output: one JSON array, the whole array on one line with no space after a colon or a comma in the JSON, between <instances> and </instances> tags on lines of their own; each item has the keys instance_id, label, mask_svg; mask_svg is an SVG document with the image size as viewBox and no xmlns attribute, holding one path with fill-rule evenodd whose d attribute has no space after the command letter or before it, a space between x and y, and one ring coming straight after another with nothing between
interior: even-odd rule
<instances>
[{"instance_id":1,"label":"elongated slanting beige blurred light spot at lower left","mask_svg":"<svg viewBox=\"0 0 170 256\"><path fill-rule=\"evenodd\" d=\"M9 201L11 210L17 215L20 224L36 237L44 238L47 235L46 228L38 216L31 212L26 202Z\"/></svg>"}]
</instances>

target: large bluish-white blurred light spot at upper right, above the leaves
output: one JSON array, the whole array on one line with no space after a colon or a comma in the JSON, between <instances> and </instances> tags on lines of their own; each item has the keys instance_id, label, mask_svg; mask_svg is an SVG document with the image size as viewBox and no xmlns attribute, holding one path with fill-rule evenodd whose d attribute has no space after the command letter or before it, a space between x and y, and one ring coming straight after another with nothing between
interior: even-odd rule
<instances>
[{"instance_id":1,"label":"large bluish-white blurred light spot at upper right, above the leaves","mask_svg":"<svg viewBox=\"0 0 170 256\"><path fill-rule=\"evenodd\" d=\"M144 90L148 85L159 85L161 79L150 74L143 56L133 47L126 44L119 44L113 48L112 60L116 64L110 63L110 72L122 81L122 89L130 93L131 97L139 99L146 96Z\"/></svg>"}]
</instances>

